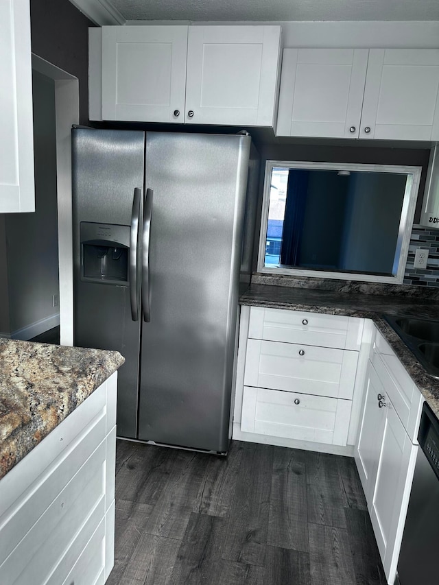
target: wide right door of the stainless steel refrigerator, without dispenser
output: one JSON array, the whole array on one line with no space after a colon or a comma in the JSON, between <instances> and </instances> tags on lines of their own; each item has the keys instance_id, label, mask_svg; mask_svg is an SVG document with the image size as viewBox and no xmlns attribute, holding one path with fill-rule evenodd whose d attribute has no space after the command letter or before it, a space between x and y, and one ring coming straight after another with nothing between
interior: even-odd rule
<instances>
[{"instance_id":1,"label":"wide right door of the stainless steel refrigerator, without dispenser","mask_svg":"<svg viewBox=\"0 0 439 585\"><path fill-rule=\"evenodd\" d=\"M228 449L249 136L147 132L139 439Z\"/></svg>"}]
</instances>

